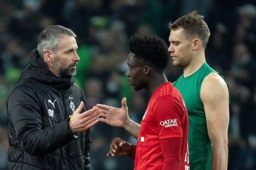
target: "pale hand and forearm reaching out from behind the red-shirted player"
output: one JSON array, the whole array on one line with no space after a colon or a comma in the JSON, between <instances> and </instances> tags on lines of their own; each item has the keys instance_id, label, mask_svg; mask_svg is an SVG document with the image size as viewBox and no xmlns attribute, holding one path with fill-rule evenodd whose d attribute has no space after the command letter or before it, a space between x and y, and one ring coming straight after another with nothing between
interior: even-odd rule
<instances>
[{"instance_id":1,"label":"pale hand and forearm reaching out from behind the red-shirted player","mask_svg":"<svg viewBox=\"0 0 256 170\"><path fill-rule=\"evenodd\" d=\"M126 98L122 99L122 107L115 108L104 104L97 104L101 109L99 120L113 127L123 127L131 136L138 138L140 125L129 118Z\"/></svg>"}]
</instances>

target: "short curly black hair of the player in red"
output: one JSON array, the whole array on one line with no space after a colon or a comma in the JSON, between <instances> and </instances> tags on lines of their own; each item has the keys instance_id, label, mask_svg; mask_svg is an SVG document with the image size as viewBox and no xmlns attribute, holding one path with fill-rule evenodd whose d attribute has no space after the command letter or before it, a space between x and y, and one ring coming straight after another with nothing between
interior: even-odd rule
<instances>
[{"instance_id":1,"label":"short curly black hair of the player in red","mask_svg":"<svg viewBox=\"0 0 256 170\"><path fill-rule=\"evenodd\" d=\"M129 39L129 50L159 72L165 70L170 59L165 41L158 36L134 34Z\"/></svg>"}]
</instances>

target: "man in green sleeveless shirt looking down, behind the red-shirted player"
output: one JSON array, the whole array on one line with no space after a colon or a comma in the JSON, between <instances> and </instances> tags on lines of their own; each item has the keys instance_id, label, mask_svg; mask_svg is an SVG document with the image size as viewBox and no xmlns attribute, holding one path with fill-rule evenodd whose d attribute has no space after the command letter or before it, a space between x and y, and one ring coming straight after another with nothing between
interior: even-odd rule
<instances>
[{"instance_id":1,"label":"man in green sleeveless shirt looking down, behind the red-shirted player","mask_svg":"<svg viewBox=\"0 0 256 170\"><path fill-rule=\"evenodd\" d=\"M205 60L210 31L203 16L193 11L169 24L168 51L173 64L183 67L173 84L189 114L191 170L227 170L229 90Z\"/></svg>"}]
</instances>

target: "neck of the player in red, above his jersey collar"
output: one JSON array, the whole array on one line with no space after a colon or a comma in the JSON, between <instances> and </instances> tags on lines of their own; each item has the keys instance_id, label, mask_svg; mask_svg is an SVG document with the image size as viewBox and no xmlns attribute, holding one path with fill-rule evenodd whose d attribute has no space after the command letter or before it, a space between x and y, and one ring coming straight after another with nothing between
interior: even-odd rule
<instances>
[{"instance_id":1,"label":"neck of the player in red, above his jersey collar","mask_svg":"<svg viewBox=\"0 0 256 170\"><path fill-rule=\"evenodd\" d=\"M152 95L160 85L163 85L166 82L168 82L168 79L165 76L165 73L157 74L151 78L151 81L148 82L148 86L145 90Z\"/></svg>"}]
</instances>

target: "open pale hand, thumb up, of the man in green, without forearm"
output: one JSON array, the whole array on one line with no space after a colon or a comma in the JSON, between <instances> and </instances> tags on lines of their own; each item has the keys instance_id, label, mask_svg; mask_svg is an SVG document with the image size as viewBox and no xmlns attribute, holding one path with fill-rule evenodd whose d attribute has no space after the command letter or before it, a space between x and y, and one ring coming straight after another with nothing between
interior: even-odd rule
<instances>
[{"instance_id":1,"label":"open pale hand, thumb up, of the man in green, without forearm","mask_svg":"<svg viewBox=\"0 0 256 170\"><path fill-rule=\"evenodd\" d=\"M115 108L104 104L96 104L96 106L101 109L99 120L107 123L110 126L124 127L129 119L125 97L122 99L121 103L121 108Z\"/></svg>"}]
</instances>

